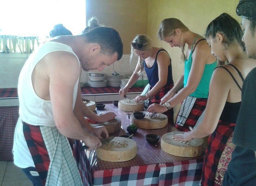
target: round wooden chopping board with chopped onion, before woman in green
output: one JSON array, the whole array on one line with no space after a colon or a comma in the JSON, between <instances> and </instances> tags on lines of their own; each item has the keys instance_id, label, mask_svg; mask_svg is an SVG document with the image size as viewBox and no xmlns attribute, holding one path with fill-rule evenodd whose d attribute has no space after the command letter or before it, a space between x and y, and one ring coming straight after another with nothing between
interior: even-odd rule
<instances>
[{"instance_id":1,"label":"round wooden chopping board with chopped onion, before woman in green","mask_svg":"<svg viewBox=\"0 0 256 186\"><path fill-rule=\"evenodd\" d=\"M147 112L144 112L147 113ZM158 129L163 128L168 123L168 117L165 114L158 113L160 116L157 118L150 118L145 116L143 119L134 118L133 113L131 114L130 123L136 124L138 128L144 129Z\"/></svg>"}]
</instances>

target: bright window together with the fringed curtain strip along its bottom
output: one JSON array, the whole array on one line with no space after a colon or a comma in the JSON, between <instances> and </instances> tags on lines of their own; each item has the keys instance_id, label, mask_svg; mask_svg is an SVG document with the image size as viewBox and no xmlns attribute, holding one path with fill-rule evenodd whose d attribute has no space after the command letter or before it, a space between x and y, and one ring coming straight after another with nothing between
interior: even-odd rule
<instances>
[{"instance_id":1,"label":"bright window together with the fringed curtain strip along its bottom","mask_svg":"<svg viewBox=\"0 0 256 186\"><path fill-rule=\"evenodd\" d=\"M86 27L85 10L85 0L1 1L0 52L31 53L56 24L79 35Z\"/></svg>"}]
</instances>

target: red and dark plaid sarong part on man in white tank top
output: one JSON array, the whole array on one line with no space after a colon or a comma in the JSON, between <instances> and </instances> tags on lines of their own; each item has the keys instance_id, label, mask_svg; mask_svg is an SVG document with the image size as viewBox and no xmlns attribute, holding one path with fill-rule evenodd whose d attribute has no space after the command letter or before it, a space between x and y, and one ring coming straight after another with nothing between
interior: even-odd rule
<instances>
[{"instance_id":1,"label":"red and dark plaid sarong part on man in white tank top","mask_svg":"<svg viewBox=\"0 0 256 186\"><path fill-rule=\"evenodd\" d=\"M36 166L36 170L39 173L42 184L45 185L50 165L50 158L43 141L40 126L30 125L24 121L22 121L22 124L24 137Z\"/></svg>"}]
</instances>

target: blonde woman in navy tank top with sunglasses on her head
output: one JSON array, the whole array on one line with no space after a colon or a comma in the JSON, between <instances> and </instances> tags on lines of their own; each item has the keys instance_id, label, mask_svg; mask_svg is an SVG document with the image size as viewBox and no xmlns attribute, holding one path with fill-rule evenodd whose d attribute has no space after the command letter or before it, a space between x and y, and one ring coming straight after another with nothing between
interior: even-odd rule
<instances>
[{"instance_id":1,"label":"blonde woman in navy tank top with sunglasses on her head","mask_svg":"<svg viewBox=\"0 0 256 186\"><path fill-rule=\"evenodd\" d=\"M130 62L133 54L139 56L138 64L127 85L120 89L119 95L124 97L127 94L145 68L151 87L147 94L137 96L135 102L149 99L148 105L159 104L161 98L174 86L169 54L163 48L152 46L151 39L146 35L137 35L131 42ZM173 109L164 114L168 117L168 123L173 125Z\"/></svg>"}]
</instances>

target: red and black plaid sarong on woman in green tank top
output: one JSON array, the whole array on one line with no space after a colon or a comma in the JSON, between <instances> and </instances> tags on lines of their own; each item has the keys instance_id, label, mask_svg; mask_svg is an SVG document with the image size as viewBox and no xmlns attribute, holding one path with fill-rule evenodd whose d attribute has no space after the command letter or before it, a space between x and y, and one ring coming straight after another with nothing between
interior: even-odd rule
<instances>
[{"instance_id":1,"label":"red and black plaid sarong on woman in green tank top","mask_svg":"<svg viewBox=\"0 0 256 186\"><path fill-rule=\"evenodd\" d=\"M194 128L197 120L205 110L207 100L208 98L196 98L196 101L187 117L185 124L183 126L180 126L177 123L175 123L175 128L177 128L179 131L182 131L182 132L190 131L189 126Z\"/></svg>"}]
</instances>

